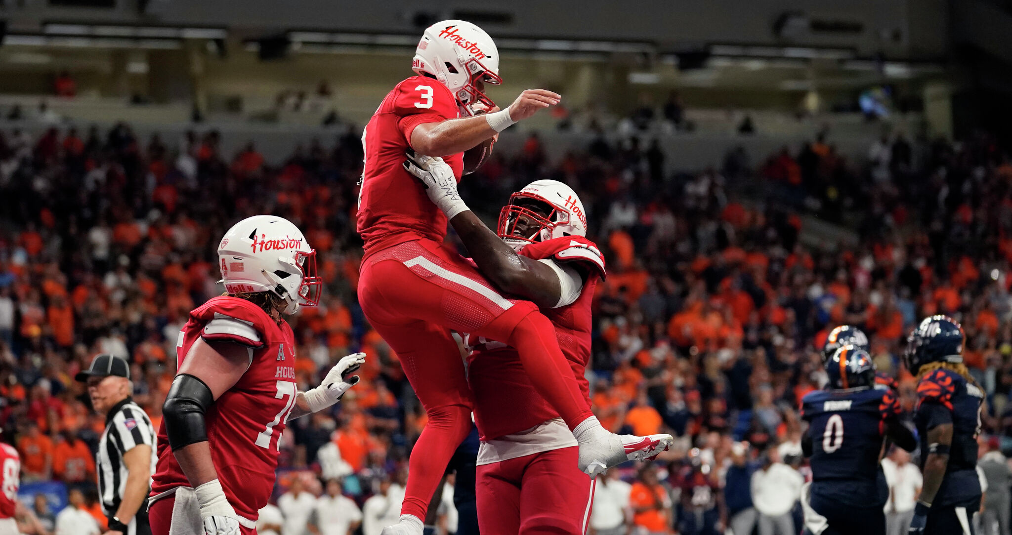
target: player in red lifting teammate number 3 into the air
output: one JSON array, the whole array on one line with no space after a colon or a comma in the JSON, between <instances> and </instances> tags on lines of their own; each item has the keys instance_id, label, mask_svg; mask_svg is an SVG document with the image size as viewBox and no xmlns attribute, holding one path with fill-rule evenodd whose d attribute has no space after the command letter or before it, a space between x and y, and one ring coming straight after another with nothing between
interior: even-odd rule
<instances>
[{"instance_id":1,"label":"player in red lifting teammate number 3 into the air","mask_svg":"<svg viewBox=\"0 0 1012 535\"><path fill-rule=\"evenodd\" d=\"M433 202L456 211L446 201L446 196L459 195L444 162L409 155L405 168L426 184ZM600 250L586 239L586 214L576 192L556 180L537 180L510 196L500 212L498 233L466 206L450 225L497 288L530 299L552 321L589 404L585 369L590 361L591 302L605 267ZM482 435L476 483L480 531L584 533L593 479L577 467L572 433L538 395L514 348L476 335L465 338L475 422ZM626 459L653 458L673 442L670 435L614 440L619 458L602 459L589 472Z\"/></svg>"}]
</instances>

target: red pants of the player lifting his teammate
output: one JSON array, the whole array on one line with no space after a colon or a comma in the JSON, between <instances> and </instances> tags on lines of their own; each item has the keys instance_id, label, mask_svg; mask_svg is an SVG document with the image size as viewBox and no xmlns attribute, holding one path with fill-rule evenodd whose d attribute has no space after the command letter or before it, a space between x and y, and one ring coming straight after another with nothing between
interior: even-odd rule
<instances>
[{"instance_id":1,"label":"red pants of the player lifting his teammate","mask_svg":"<svg viewBox=\"0 0 1012 535\"><path fill-rule=\"evenodd\" d=\"M595 481L577 467L579 447L478 467L482 535L587 532Z\"/></svg>"}]
</instances>

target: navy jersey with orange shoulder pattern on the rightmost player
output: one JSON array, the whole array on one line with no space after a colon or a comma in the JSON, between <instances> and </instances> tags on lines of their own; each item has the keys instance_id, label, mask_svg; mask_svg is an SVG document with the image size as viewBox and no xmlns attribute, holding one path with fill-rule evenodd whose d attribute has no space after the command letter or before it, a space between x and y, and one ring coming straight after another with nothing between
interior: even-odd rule
<instances>
[{"instance_id":1,"label":"navy jersey with orange shoulder pattern on the rightmost player","mask_svg":"<svg viewBox=\"0 0 1012 535\"><path fill-rule=\"evenodd\" d=\"M939 368L917 383L917 397L914 423L920 440L922 470L928 458L928 431L942 424L952 424L952 445L945 478L933 504L960 506L980 500L977 436L981 433L984 392L962 375Z\"/></svg>"}]
</instances>

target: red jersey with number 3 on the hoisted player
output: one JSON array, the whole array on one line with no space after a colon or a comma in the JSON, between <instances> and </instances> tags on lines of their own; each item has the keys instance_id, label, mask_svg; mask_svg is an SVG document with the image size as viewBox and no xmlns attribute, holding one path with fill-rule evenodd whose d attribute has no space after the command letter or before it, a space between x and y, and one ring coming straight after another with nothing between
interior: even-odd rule
<instances>
[{"instance_id":1,"label":"red jersey with number 3 on the hoisted player","mask_svg":"<svg viewBox=\"0 0 1012 535\"><path fill-rule=\"evenodd\" d=\"M362 132L365 165L358 193L358 234L365 241L365 256L412 240L442 243L446 216L402 166L416 126L458 116L453 94L426 76L408 78L384 98ZM442 156L460 180L463 153L429 156Z\"/></svg>"}]
</instances>

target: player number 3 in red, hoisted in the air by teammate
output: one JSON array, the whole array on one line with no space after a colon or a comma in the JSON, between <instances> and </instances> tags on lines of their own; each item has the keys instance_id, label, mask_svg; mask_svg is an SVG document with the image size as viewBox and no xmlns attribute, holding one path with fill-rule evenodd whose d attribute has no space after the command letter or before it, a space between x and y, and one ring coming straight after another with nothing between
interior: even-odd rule
<instances>
[{"instance_id":1,"label":"player number 3 in red, hoisted in the air by teammate","mask_svg":"<svg viewBox=\"0 0 1012 535\"><path fill-rule=\"evenodd\" d=\"M488 33L462 20L428 27L412 69L416 76L399 83L365 125L357 229L365 242L362 311L397 353L428 415L409 461L402 523L388 532L417 535L447 461L472 427L470 390L451 330L517 350L535 390L580 443L582 468L606 464L621 448L593 418L552 322L534 303L503 296L443 245L447 215L455 213L434 206L402 167L409 149L444 157L455 182L462 152L558 104L560 96L526 90L508 108L496 108L484 88L502 81L499 52ZM487 112L474 115L480 111Z\"/></svg>"}]
</instances>

